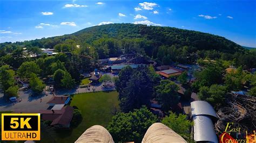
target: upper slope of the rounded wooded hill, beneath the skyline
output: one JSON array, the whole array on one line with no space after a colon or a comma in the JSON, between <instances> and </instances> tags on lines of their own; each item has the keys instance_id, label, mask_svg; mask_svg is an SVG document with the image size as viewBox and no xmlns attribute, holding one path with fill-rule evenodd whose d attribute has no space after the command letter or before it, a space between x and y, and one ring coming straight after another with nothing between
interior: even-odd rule
<instances>
[{"instance_id":1,"label":"upper slope of the rounded wooded hill, beneath the skyline","mask_svg":"<svg viewBox=\"0 0 256 143\"><path fill-rule=\"evenodd\" d=\"M237 52L242 51L242 47L234 42L220 37L218 35L183 30L174 27L146 26L134 24L109 24L102 26L93 26L73 33L80 40L91 41L109 37L114 39L137 39L142 38L151 42L153 48L159 46L191 46L191 51L201 49L215 49L221 52Z\"/></svg>"}]
</instances>

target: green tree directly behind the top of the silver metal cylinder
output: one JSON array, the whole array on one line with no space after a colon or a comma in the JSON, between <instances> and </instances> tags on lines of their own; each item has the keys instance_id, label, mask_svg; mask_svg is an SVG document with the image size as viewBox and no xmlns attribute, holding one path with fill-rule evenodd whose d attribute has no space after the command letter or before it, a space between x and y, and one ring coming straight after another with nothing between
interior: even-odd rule
<instances>
[{"instance_id":1,"label":"green tree directly behind the top of the silver metal cylinder","mask_svg":"<svg viewBox=\"0 0 256 143\"><path fill-rule=\"evenodd\" d=\"M226 95L226 87L223 85L213 84L210 88L201 87L198 92L198 97L202 101L209 102L215 109L218 109L224 103Z\"/></svg>"}]
</instances>

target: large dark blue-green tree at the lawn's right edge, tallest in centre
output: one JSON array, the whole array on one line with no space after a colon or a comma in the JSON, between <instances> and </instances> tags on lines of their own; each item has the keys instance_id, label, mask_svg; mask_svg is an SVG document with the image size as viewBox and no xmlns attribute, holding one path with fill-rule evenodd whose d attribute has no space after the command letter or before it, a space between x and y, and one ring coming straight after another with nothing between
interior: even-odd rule
<instances>
[{"instance_id":1,"label":"large dark blue-green tree at the lawn's right edge, tallest in centre","mask_svg":"<svg viewBox=\"0 0 256 143\"><path fill-rule=\"evenodd\" d=\"M142 105L149 106L153 94L149 69L138 67L132 73L130 71L132 70L129 67L124 69L115 83L118 86L120 108L123 112L139 109Z\"/></svg>"}]
</instances>

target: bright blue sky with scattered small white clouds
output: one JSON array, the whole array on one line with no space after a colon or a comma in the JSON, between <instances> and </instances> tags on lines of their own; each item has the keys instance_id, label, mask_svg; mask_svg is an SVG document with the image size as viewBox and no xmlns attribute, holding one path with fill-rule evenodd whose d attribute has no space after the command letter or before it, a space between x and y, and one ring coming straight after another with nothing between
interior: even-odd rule
<instances>
[{"instance_id":1,"label":"bright blue sky with scattered small white clouds","mask_svg":"<svg viewBox=\"0 0 256 143\"><path fill-rule=\"evenodd\" d=\"M108 23L184 28L256 47L256 1L0 0L0 42L70 34Z\"/></svg>"}]
</instances>

